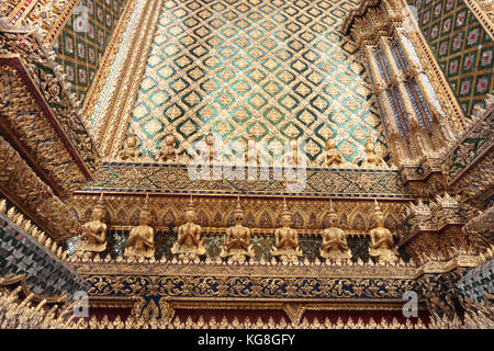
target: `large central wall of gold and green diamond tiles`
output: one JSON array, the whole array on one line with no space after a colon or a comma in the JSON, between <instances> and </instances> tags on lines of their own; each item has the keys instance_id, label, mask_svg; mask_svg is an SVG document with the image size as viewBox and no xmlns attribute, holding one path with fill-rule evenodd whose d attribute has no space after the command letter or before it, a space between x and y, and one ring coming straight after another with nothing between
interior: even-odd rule
<instances>
[{"instance_id":1,"label":"large central wall of gold and green diamond tiles","mask_svg":"<svg viewBox=\"0 0 494 351\"><path fill-rule=\"evenodd\" d=\"M165 1L128 133L154 159L166 134L183 155L210 129L225 144L254 134L266 148L295 133L310 162L327 137L348 160L368 138L385 149L358 49L340 32L356 3Z\"/></svg>"}]
</instances>

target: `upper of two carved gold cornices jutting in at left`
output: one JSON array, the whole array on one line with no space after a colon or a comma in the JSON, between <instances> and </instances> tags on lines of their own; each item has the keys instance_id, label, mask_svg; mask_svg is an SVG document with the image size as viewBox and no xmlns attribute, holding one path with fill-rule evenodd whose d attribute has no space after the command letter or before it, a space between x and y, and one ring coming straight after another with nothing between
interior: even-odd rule
<instances>
[{"instance_id":1,"label":"upper of two carved gold cornices jutting in at left","mask_svg":"<svg viewBox=\"0 0 494 351\"><path fill-rule=\"evenodd\" d=\"M57 196L92 180L98 152L61 68L30 30L0 24L0 129Z\"/></svg>"}]
</instances>

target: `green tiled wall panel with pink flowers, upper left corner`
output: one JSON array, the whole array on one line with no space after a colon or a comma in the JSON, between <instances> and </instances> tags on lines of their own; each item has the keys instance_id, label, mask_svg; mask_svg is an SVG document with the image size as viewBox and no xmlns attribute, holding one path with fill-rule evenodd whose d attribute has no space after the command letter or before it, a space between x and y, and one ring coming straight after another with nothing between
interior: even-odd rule
<instances>
[{"instance_id":1,"label":"green tiled wall panel with pink flowers, upper left corner","mask_svg":"<svg viewBox=\"0 0 494 351\"><path fill-rule=\"evenodd\" d=\"M77 99L83 101L127 0L81 0L54 44ZM83 24L87 9L88 25Z\"/></svg>"}]
</instances>

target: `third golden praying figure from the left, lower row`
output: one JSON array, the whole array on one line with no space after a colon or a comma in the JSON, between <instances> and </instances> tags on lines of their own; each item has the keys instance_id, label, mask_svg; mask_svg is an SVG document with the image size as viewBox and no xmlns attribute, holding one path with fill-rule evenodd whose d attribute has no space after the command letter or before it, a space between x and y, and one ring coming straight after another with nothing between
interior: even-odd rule
<instances>
[{"instance_id":1,"label":"third golden praying figure from the left, lower row","mask_svg":"<svg viewBox=\"0 0 494 351\"><path fill-rule=\"evenodd\" d=\"M171 253L177 254L179 260L195 259L205 253L204 245L201 240L202 228L195 224L197 212L192 202L192 196L188 207L183 213L186 223L178 228L177 241L171 247Z\"/></svg>"}]
</instances>

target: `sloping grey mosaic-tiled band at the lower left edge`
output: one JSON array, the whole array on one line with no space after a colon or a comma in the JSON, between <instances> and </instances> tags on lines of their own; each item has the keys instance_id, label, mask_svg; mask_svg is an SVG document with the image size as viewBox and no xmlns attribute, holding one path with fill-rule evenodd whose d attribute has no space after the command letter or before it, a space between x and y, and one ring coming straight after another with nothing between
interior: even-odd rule
<instances>
[{"instance_id":1,"label":"sloping grey mosaic-tiled band at the lower left edge","mask_svg":"<svg viewBox=\"0 0 494 351\"><path fill-rule=\"evenodd\" d=\"M31 292L71 296L87 283L66 263L0 213L0 276L26 274Z\"/></svg>"}]
</instances>

